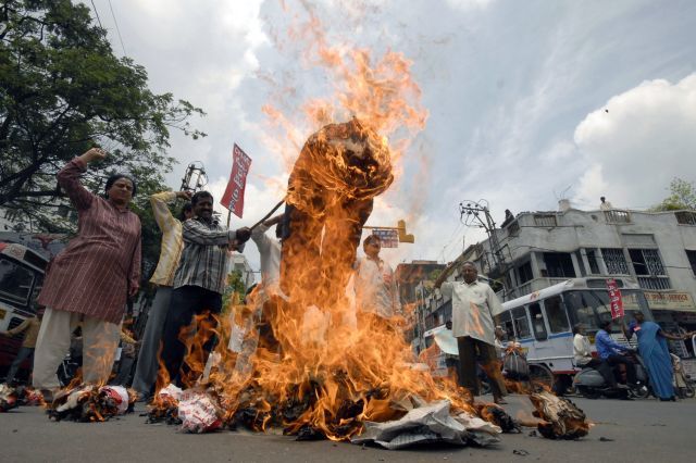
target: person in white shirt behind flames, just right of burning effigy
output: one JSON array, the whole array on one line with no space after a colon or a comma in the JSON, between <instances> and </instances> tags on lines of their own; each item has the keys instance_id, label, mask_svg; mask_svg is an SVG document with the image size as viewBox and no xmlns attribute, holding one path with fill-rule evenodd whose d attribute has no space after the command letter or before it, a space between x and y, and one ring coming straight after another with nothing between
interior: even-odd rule
<instances>
[{"instance_id":1,"label":"person in white shirt behind flames, just right of burning effigy","mask_svg":"<svg viewBox=\"0 0 696 463\"><path fill-rule=\"evenodd\" d=\"M378 236L369 235L362 241L362 249L365 256L356 262L355 279L358 324L384 325L401 311L394 270L380 258L382 240Z\"/></svg>"}]
</instances>

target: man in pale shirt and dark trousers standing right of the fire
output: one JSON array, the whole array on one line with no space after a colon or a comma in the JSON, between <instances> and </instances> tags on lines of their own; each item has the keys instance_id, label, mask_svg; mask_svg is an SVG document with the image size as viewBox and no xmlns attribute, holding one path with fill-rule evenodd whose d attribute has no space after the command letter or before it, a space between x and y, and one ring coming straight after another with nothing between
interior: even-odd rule
<instances>
[{"instance_id":1,"label":"man in pale shirt and dark trousers standing right of the fire","mask_svg":"<svg viewBox=\"0 0 696 463\"><path fill-rule=\"evenodd\" d=\"M455 265L445 268L435 280L443 296L452 301L452 336L457 338L461 376L460 385L478 396L476 356L490 381L496 403L507 403L507 389L500 373L500 361L496 354L493 316L502 312L502 305L493 289L478 281L478 272L473 262L462 264L463 281L445 281Z\"/></svg>"}]
</instances>

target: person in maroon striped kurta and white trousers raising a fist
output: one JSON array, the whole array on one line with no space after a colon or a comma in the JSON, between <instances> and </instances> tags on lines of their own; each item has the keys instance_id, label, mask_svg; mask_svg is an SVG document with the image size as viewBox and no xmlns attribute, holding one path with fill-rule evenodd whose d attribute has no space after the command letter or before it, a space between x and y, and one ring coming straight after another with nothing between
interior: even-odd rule
<instances>
[{"instance_id":1,"label":"person in maroon striped kurta and white trousers raising a fist","mask_svg":"<svg viewBox=\"0 0 696 463\"><path fill-rule=\"evenodd\" d=\"M128 210L132 178L113 175L107 199L79 183L87 164L105 153L94 148L69 162L58 183L78 213L77 237L50 263L39 303L47 306L39 331L34 386L59 387L55 371L70 349L71 333L82 324L83 379L105 383L119 342L126 300L140 279L140 220Z\"/></svg>"}]
</instances>

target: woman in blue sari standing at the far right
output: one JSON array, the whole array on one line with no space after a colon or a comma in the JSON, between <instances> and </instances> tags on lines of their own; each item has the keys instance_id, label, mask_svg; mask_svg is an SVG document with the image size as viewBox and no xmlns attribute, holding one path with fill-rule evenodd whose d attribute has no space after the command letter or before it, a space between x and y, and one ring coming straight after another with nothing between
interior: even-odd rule
<instances>
[{"instance_id":1,"label":"woman in blue sari standing at the far right","mask_svg":"<svg viewBox=\"0 0 696 463\"><path fill-rule=\"evenodd\" d=\"M683 337L664 333L660 325L654 322L646 322L641 312L633 314L635 318L631 322L625 335L627 339L635 334L638 338L638 352L647 368L652 391L661 401L675 400L674 387L672 386L672 359L667 349L667 339L682 340Z\"/></svg>"}]
</instances>

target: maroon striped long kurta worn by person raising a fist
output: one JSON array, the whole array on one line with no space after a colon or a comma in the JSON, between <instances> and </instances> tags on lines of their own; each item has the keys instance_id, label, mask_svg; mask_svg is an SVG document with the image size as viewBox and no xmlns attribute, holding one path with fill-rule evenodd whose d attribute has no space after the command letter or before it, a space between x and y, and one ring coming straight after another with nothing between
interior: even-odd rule
<instances>
[{"instance_id":1,"label":"maroon striped long kurta worn by person raising a fist","mask_svg":"<svg viewBox=\"0 0 696 463\"><path fill-rule=\"evenodd\" d=\"M140 220L79 184L86 165L74 159L58 183L77 209L77 237L50 263L39 303L120 323L130 286L140 279Z\"/></svg>"}]
</instances>

